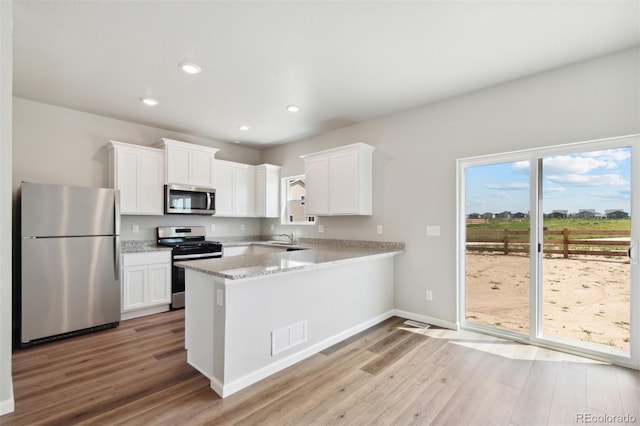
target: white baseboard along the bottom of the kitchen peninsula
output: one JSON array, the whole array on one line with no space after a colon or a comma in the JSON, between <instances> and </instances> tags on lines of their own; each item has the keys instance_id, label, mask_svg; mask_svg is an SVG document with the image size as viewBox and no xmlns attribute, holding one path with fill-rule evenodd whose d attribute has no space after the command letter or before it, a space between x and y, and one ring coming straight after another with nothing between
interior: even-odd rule
<instances>
[{"instance_id":1,"label":"white baseboard along the bottom of the kitchen peninsula","mask_svg":"<svg viewBox=\"0 0 640 426\"><path fill-rule=\"evenodd\" d=\"M218 395L223 398L238 392L241 389L246 388L249 385L252 385L260 380L277 373L278 371L284 370L287 367L292 366L305 358L308 358L312 355L317 354L318 352L335 345L353 335L360 333L361 331L366 330L369 327L372 327L388 318L391 318L395 315L394 310L387 311L381 315L373 317L365 322L362 322L354 327L351 327L345 331L342 331L336 335L333 335L327 339L324 339L314 345L311 345L299 352L291 354L286 358L282 358L272 364L269 364L259 370L256 370L252 373L249 373L239 379L236 379L230 383L222 384L217 380L211 380L211 389L213 389Z\"/></svg>"}]
</instances>

